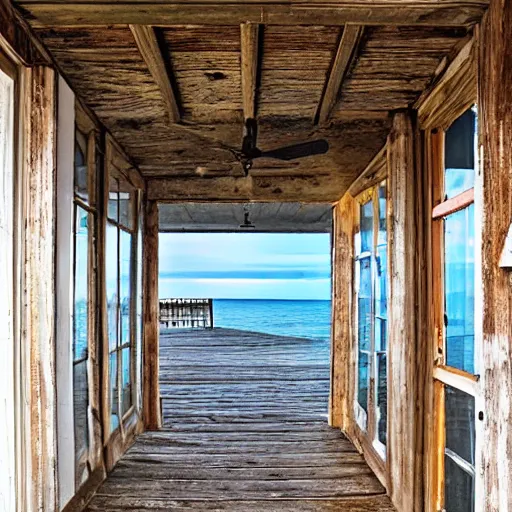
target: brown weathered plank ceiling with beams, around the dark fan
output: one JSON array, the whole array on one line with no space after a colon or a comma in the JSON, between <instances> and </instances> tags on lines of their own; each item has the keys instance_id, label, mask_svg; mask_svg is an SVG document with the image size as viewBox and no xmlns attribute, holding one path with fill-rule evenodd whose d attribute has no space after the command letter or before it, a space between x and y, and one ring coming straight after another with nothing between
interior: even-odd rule
<instances>
[{"instance_id":1,"label":"brown weathered plank ceiling with beams, around the dark fan","mask_svg":"<svg viewBox=\"0 0 512 512\"><path fill-rule=\"evenodd\" d=\"M334 201L385 143L389 112L442 72L486 2L18 6L154 199ZM263 149L325 137L330 150L257 160L243 178L227 148L252 116Z\"/></svg>"}]
</instances>

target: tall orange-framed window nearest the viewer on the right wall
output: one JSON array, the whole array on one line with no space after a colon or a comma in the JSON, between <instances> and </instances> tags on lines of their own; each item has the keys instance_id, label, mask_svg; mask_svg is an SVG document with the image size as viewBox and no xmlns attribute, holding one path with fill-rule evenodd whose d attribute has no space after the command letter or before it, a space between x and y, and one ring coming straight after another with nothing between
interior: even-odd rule
<instances>
[{"instance_id":1,"label":"tall orange-framed window nearest the viewer on the right wall","mask_svg":"<svg viewBox=\"0 0 512 512\"><path fill-rule=\"evenodd\" d=\"M436 510L475 510L475 206L476 109L433 135L433 292Z\"/></svg>"}]
</instances>

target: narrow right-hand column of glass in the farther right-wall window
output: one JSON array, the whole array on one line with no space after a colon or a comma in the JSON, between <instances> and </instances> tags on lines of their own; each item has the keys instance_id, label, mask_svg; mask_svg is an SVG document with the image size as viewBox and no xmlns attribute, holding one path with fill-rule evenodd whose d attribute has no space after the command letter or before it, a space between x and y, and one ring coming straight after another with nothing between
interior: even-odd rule
<instances>
[{"instance_id":1,"label":"narrow right-hand column of glass in the farther right-wall window","mask_svg":"<svg viewBox=\"0 0 512 512\"><path fill-rule=\"evenodd\" d=\"M376 355L376 405L377 439L386 444L387 432L387 219L386 185L379 187L379 231L376 254L375 279L375 355Z\"/></svg>"}]
</instances>

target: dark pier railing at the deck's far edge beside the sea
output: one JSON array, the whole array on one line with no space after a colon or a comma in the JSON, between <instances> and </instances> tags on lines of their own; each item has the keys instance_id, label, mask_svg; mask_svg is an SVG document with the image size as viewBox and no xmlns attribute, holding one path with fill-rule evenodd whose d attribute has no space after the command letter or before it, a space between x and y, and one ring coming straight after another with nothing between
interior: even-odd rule
<instances>
[{"instance_id":1,"label":"dark pier railing at the deck's far edge beside the sea","mask_svg":"<svg viewBox=\"0 0 512 512\"><path fill-rule=\"evenodd\" d=\"M160 326L169 329L212 329L212 299L160 299Z\"/></svg>"}]
</instances>

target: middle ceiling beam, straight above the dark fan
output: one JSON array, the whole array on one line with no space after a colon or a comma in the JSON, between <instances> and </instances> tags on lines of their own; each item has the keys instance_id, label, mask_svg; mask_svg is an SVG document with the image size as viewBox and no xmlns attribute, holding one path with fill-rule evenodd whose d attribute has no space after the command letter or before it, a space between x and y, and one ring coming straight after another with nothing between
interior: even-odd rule
<instances>
[{"instance_id":1,"label":"middle ceiling beam, straight above the dark fan","mask_svg":"<svg viewBox=\"0 0 512 512\"><path fill-rule=\"evenodd\" d=\"M260 26L257 23L240 25L242 100L245 119L256 117L259 31Z\"/></svg>"}]
</instances>

